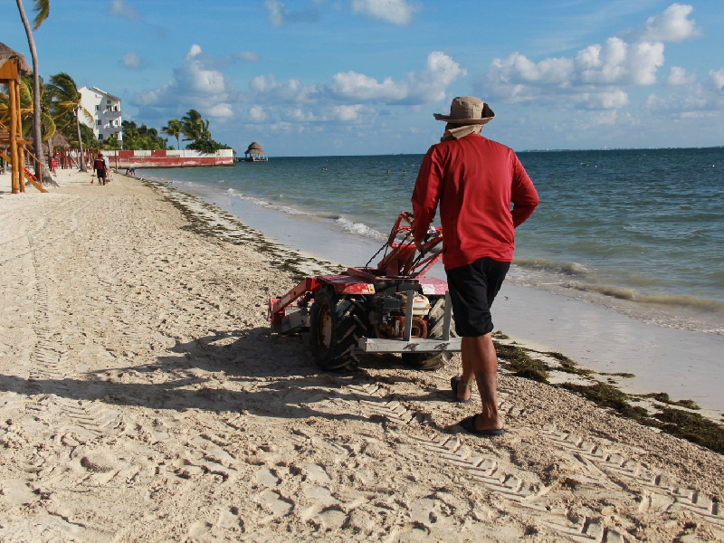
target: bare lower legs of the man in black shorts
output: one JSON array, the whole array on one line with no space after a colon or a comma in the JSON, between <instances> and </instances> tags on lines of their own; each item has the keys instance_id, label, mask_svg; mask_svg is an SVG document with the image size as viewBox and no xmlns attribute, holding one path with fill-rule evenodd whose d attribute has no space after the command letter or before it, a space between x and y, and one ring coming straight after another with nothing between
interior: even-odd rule
<instances>
[{"instance_id":1,"label":"bare lower legs of the man in black shorts","mask_svg":"<svg viewBox=\"0 0 724 543\"><path fill-rule=\"evenodd\" d=\"M498 430L503 420L498 412L498 354L491 334L478 338L462 338L462 383L458 383L458 397L467 400L471 387L465 383L478 383L482 411L475 417L477 430ZM464 389L464 390L463 390Z\"/></svg>"}]
</instances>

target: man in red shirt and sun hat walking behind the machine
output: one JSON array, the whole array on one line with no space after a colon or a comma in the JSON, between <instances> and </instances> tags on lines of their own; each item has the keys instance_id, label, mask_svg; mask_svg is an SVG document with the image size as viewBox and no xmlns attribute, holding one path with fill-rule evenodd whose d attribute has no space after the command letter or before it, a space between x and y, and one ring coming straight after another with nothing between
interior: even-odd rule
<instances>
[{"instance_id":1,"label":"man in red shirt and sun hat walking behind the machine","mask_svg":"<svg viewBox=\"0 0 724 543\"><path fill-rule=\"evenodd\" d=\"M480 135L495 117L488 104L462 96L452 100L450 115L434 117L447 125L417 175L414 243L424 243L439 202L443 264L462 338L462 375L452 377L452 393L470 402L477 382L482 400L481 413L460 424L470 433L501 435L491 305L513 260L515 228L533 213L538 193L513 150Z\"/></svg>"}]
</instances>

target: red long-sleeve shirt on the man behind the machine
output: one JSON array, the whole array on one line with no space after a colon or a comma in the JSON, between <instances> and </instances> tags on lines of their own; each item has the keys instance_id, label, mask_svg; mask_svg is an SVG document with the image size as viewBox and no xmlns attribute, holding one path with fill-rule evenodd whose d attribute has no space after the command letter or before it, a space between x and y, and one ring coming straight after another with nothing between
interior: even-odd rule
<instances>
[{"instance_id":1,"label":"red long-sleeve shirt on the man behind the machine","mask_svg":"<svg viewBox=\"0 0 724 543\"><path fill-rule=\"evenodd\" d=\"M438 202L443 264L451 270L484 257L512 261L515 228L533 213L538 193L511 148L471 134L427 151L412 199L415 239L424 239Z\"/></svg>"}]
</instances>

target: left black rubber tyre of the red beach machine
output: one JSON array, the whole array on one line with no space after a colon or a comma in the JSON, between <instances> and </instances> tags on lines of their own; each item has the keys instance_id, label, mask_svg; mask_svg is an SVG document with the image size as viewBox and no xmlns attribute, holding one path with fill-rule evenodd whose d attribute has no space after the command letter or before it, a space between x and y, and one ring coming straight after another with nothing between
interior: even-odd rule
<instances>
[{"instance_id":1,"label":"left black rubber tyre of the red beach machine","mask_svg":"<svg viewBox=\"0 0 724 543\"><path fill-rule=\"evenodd\" d=\"M343 369L355 362L353 349L368 329L363 300L338 296L333 288L322 287L310 313L310 347L317 366Z\"/></svg>"}]
</instances>

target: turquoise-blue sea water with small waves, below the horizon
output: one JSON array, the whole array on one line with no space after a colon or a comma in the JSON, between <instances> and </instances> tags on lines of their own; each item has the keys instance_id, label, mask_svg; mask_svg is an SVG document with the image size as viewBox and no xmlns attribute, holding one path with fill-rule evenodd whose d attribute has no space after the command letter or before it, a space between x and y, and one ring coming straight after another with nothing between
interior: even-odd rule
<instances>
[{"instance_id":1,"label":"turquoise-blue sea water with small waves, below the horizon","mask_svg":"<svg viewBox=\"0 0 724 543\"><path fill-rule=\"evenodd\" d=\"M724 335L724 148L519 157L540 205L516 232L510 281L663 326ZM371 243L382 243L396 215L411 208L422 158L271 157L138 174L216 203L263 210L266 224L283 217L316 231L310 237L317 240L348 233L364 256ZM263 224L251 225L265 233ZM329 258L323 246L300 248ZM360 255L352 247L354 262L343 263L364 263Z\"/></svg>"}]
</instances>

